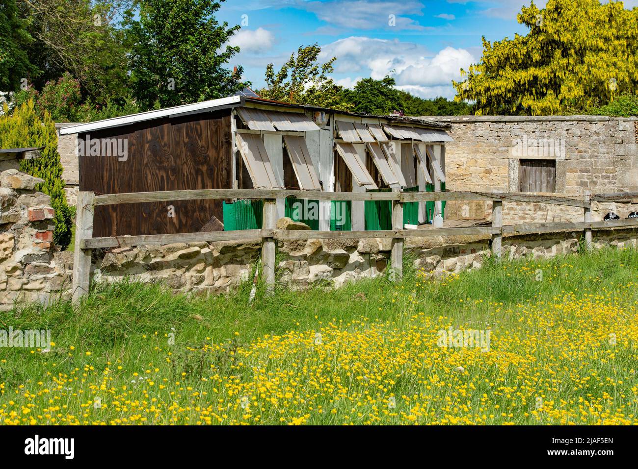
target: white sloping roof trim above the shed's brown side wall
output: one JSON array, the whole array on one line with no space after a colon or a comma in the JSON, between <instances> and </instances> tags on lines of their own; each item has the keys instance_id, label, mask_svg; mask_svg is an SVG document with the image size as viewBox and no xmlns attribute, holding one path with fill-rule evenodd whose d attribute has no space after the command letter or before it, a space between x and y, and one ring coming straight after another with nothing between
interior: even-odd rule
<instances>
[{"instance_id":1,"label":"white sloping roof trim above the shed's brown side wall","mask_svg":"<svg viewBox=\"0 0 638 469\"><path fill-rule=\"evenodd\" d=\"M125 115L123 117L114 117L113 119L96 120L88 124L79 124L78 126L63 127L60 129L61 135L77 134L100 129L108 129L110 127L127 126L136 122L144 122L144 120L158 119L159 117L175 117L189 112L214 110L221 106L237 105L241 103L241 96L228 96L220 99L211 99L210 101L202 101L192 105L181 105L173 108L159 109L157 111L140 112L138 114Z\"/></svg>"}]
</instances>

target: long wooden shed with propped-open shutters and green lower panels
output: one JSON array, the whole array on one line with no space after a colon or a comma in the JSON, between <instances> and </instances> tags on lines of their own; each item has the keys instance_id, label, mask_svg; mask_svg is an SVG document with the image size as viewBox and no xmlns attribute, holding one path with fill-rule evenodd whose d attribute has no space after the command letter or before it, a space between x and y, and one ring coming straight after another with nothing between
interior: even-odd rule
<instances>
[{"instance_id":1,"label":"long wooden shed with propped-open shutters and green lower panels","mask_svg":"<svg viewBox=\"0 0 638 469\"><path fill-rule=\"evenodd\" d=\"M60 133L77 134L80 191L96 194L271 188L427 191L445 189L445 142L452 140L447 128L449 124L407 117L230 96L65 127ZM355 201L344 207L347 220L340 226L333 216L340 208L336 203L315 203L316 219L294 212L288 199L279 202L279 216L325 230L378 229L375 217L382 225L385 216L378 203ZM93 236L241 229L250 227L250 210L258 212L253 205L200 200L99 206ZM409 221L427 222L436 210L442 207L415 205ZM260 217L252 222L260 223Z\"/></svg>"}]
</instances>

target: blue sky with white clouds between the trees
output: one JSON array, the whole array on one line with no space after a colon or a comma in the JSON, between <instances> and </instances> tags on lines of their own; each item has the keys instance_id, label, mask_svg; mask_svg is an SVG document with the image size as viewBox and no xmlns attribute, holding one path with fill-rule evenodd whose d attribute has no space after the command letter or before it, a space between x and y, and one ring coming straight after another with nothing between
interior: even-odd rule
<instances>
[{"instance_id":1,"label":"blue sky with white clouds between the trees","mask_svg":"<svg viewBox=\"0 0 638 469\"><path fill-rule=\"evenodd\" d=\"M240 24L231 43L242 52L231 65L262 87L269 62L281 66L300 45L317 42L322 59L336 56L334 80L392 74L397 87L420 97L454 96L450 80L480 59L481 36L512 38L527 29L516 14L530 0L227 0L220 21ZM545 0L537 1L540 7ZM636 5L638 0L625 2ZM389 24L390 15L396 18Z\"/></svg>"}]
</instances>

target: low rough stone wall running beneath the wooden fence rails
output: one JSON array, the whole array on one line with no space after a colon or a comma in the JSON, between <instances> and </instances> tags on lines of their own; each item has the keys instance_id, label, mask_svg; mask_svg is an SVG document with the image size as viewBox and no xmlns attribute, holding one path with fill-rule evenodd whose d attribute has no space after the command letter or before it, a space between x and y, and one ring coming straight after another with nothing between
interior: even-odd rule
<instances>
[{"instance_id":1,"label":"low rough stone wall running beneath the wooden fence rails","mask_svg":"<svg viewBox=\"0 0 638 469\"><path fill-rule=\"evenodd\" d=\"M576 252L582 231L503 236L503 256L519 259ZM479 268L490 256L489 236L409 238L406 252L415 266L436 274ZM638 247L638 229L593 231L593 246ZM121 248L100 252L93 278L117 282L131 278L161 281L175 292L222 293L251 282L260 240L178 243L162 247ZM288 287L341 287L346 282L383 275L390 257L389 239L334 239L278 242L276 277Z\"/></svg>"}]
</instances>

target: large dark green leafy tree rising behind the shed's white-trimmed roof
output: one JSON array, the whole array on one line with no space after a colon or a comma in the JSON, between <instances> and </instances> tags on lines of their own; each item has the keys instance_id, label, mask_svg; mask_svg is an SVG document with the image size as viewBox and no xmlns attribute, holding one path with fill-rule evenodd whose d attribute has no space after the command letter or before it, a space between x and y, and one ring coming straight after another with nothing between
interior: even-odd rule
<instances>
[{"instance_id":1,"label":"large dark green leafy tree rising behind the shed's white-trimmed roof","mask_svg":"<svg viewBox=\"0 0 638 469\"><path fill-rule=\"evenodd\" d=\"M223 0L222 0L223 1ZM212 0L141 0L128 18L133 41L131 80L142 108L176 106L234 94L244 86L241 68L224 65L239 52L226 45L239 30L215 18Z\"/></svg>"}]
</instances>

